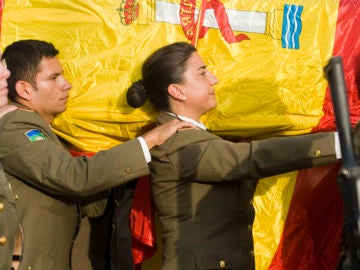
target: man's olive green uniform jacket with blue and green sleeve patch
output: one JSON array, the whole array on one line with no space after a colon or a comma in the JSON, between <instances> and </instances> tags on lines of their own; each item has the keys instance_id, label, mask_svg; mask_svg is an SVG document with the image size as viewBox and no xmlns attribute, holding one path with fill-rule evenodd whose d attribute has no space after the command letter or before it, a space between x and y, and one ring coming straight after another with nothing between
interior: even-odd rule
<instances>
[{"instance_id":1,"label":"man's olive green uniform jacket with blue and green sleeve patch","mask_svg":"<svg viewBox=\"0 0 360 270\"><path fill-rule=\"evenodd\" d=\"M49 124L24 108L0 119L0 162L19 197L21 270L70 269L82 197L149 174L138 140L72 157Z\"/></svg>"}]
</instances>

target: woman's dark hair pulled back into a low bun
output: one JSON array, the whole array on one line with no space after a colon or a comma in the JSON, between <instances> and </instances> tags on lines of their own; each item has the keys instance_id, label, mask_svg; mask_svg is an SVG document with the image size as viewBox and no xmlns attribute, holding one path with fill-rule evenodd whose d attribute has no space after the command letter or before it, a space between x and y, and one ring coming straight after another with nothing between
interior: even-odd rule
<instances>
[{"instance_id":1,"label":"woman's dark hair pulled back into a low bun","mask_svg":"<svg viewBox=\"0 0 360 270\"><path fill-rule=\"evenodd\" d=\"M133 83L127 91L127 102L138 108L147 98L158 110L170 111L167 88L181 83L186 64L196 48L186 42L175 42L152 53L142 66L142 79Z\"/></svg>"}]
</instances>

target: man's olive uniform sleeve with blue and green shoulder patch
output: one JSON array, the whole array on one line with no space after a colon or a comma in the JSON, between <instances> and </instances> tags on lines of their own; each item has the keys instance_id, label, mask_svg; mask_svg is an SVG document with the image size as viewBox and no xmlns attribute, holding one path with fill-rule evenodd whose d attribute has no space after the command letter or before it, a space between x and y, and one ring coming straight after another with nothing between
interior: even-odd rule
<instances>
[{"instance_id":1,"label":"man's olive uniform sleeve with blue and green shoulder patch","mask_svg":"<svg viewBox=\"0 0 360 270\"><path fill-rule=\"evenodd\" d=\"M14 121L4 127L0 134L0 158L5 171L51 193L87 196L149 173L138 140L100 151L90 158L73 157L46 127L36 123L18 125ZM25 135L29 130L41 134L33 132L31 139Z\"/></svg>"}]
</instances>

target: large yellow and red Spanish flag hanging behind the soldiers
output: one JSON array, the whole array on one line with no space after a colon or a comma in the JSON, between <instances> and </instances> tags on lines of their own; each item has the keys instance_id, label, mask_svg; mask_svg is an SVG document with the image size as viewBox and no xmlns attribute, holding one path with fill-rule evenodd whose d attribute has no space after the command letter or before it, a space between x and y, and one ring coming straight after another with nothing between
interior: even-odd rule
<instances>
[{"instance_id":1,"label":"large yellow and red Spanish flag hanging behind the soldiers","mask_svg":"<svg viewBox=\"0 0 360 270\"><path fill-rule=\"evenodd\" d=\"M224 138L335 130L323 74L334 55L343 57L351 124L359 120L359 1L0 2L2 49L35 38L60 50L73 88L68 109L52 127L77 151L108 149L152 125L156 112L150 104L130 108L125 91L140 78L144 59L175 41L194 44L218 77L218 107L203 121ZM259 181L253 227L257 270L335 269L343 217L338 170L339 165L325 166ZM152 226L151 218L142 220ZM156 246L151 235L136 237ZM146 256L139 253L134 251L135 261L141 263Z\"/></svg>"}]
</instances>

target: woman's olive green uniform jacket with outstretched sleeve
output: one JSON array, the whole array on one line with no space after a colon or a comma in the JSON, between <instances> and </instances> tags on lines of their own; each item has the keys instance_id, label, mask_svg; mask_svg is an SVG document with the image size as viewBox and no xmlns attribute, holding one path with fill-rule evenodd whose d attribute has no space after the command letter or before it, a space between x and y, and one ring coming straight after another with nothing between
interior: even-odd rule
<instances>
[{"instance_id":1,"label":"woman's olive green uniform jacket with outstretched sleeve","mask_svg":"<svg viewBox=\"0 0 360 270\"><path fill-rule=\"evenodd\" d=\"M172 116L160 113L159 122ZM164 270L254 269L257 179L335 163L333 133L251 143L184 129L151 150L152 196L162 225Z\"/></svg>"}]
</instances>

